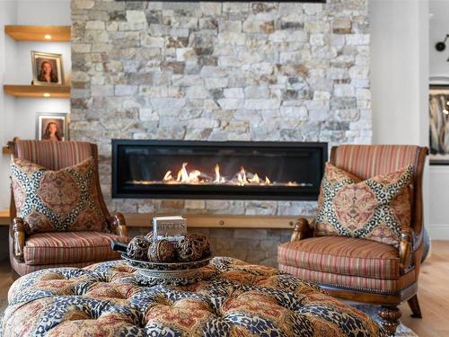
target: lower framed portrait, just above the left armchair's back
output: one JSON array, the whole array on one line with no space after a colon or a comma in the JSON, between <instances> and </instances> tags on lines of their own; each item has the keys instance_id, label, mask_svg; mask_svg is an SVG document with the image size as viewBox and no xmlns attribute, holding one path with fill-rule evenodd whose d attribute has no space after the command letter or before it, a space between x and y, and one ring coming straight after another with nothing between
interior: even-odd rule
<instances>
[{"instance_id":1,"label":"lower framed portrait, just above the left armchair's back","mask_svg":"<svg viewBox=\"0 0 449 337\"><path fill-rule=\"evenodd\" d=\"M68 140L68 113L38 112L36 115L36 139Z\"/></svg>"}]
</instances>

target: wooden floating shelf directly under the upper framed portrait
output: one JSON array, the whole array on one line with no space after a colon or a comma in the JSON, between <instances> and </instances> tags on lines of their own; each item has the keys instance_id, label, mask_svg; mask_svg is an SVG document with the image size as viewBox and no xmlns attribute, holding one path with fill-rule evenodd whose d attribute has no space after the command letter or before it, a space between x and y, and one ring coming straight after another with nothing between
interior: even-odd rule
<instances>
[{"instance_id":1,"label":"wooden floating shelf directly under the upper framed portrait","mask_svg":"<svg viewBox=\"0 0 449 337\"><path fill-rule=\"evenodd\" d=\"M70 85L8 85L4 84L4 93L15 97L28 98L70 98ZM48 95L49 96L48 96Z\"/></svg>"}]
</instances>

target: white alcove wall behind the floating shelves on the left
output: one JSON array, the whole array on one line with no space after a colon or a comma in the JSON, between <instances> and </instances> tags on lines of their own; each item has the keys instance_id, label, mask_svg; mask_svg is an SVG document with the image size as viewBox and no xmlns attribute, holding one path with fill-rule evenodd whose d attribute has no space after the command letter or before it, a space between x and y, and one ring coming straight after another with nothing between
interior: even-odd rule
<instances>
[{"instance_id":1,"label":"white alcove wall behind the floating shelves on the left","mask_svg":"<svg viewBox=\"0 0 449 337\"><path fill-rule=\"evenodd\" d=\"M71 25L70 0L0 1L0 83L30 84L31 50L63 55L65 73L70 73L69 43L17 42L4 36L5 24ZM4 95L0 88L0 142L18 136L34 138L36 112L69 112L68 99L23 99ZM9 157L0 157L0 209L9 207Z\"/></svg>"}]
</instances>

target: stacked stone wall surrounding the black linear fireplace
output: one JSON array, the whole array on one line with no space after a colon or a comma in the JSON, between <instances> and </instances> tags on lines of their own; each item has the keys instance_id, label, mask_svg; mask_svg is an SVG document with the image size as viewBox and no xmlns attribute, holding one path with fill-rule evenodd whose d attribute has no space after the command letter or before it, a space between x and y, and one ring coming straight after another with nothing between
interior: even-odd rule
<instances>
[{"instance_id":1,"label":"stacked stone wall surrounding the black linear fireplace","mask_svg":"<svg viewBox=\"0 0 449 337\"><path fill-rule=\"evenodd\" d=\"M111 138L371 141L367 0L73 0L72 18L70 137L99 145L111 209L299 215L315 208L112 200Z\"/></svg>"}]
</instances>

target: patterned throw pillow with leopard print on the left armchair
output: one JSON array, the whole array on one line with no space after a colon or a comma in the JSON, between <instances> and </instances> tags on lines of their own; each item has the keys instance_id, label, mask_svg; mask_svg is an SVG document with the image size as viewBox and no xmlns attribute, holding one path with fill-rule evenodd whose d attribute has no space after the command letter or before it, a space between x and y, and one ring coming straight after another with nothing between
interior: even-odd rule
<instances>
[{"instance_id":1,"label":"patterned throw pillow with leopard print on the left armchair","mask_svg":"<svg viewBox=\"0 0 449 337\"><path fill-rule=\"evenodd\" d=\"M59 171L13 158L11 180L17 216L27 233L103 231L92 157Z\"/></svg>"}]
</instances>

